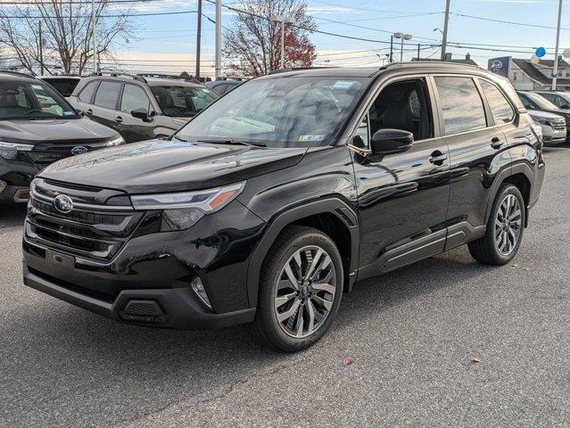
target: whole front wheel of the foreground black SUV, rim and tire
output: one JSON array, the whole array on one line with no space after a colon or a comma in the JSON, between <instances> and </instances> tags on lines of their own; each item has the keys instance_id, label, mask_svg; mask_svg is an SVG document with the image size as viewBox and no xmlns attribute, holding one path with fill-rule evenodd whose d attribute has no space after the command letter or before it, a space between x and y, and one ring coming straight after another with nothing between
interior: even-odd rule
<instances>
[{"instance_id":1,"label":"whole front wheel of the foreground black SUV, rim and tire","mask_svg":"<svg viewBox=\"0 0 570 428\"><path fill-rule=\"evenodd\" d=\"M331 325L343 292L343 263L318 229L289 226L261 267L252 332L277 350L303 350Z\"/></svg>"}]
</instances>

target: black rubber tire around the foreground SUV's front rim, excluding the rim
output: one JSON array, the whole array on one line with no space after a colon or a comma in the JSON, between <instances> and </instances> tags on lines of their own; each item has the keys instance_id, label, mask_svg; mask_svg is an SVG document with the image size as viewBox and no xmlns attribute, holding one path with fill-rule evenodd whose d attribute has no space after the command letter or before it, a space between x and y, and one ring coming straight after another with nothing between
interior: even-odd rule
<instances>
[{"instance_id":1,"label":"black rubber tire around the foreground SUV's front rim, excluding the rim","mask_svg":"<svg viewBox=\"0 0 570 428\"><path fill-rule=\"evenodd\" d=\"M277 283L283 275L285 263L297 251L308 246L318 246L326 251L335 268L335 295L332 307L322 324L310 335L302 338L285 333L277 321L276 293ZM335 318L343 293L343 262L335 243L318 229L307 226L288 226L277 237L263 261L260 274L255 319L250 325L254 337L264 345L275 350L296 352L309 348L326 333ZM332 285L332 284L331 284ZM297 299L297 298L295 298Z\"/></svg>"}]
</instances>

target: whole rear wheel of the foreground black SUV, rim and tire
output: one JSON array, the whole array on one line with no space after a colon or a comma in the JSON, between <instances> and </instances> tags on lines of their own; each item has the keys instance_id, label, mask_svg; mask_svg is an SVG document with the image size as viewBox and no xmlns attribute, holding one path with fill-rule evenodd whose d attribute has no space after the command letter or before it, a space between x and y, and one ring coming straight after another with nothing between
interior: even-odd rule
<instances>
[{"instance_id":1,"label":"whole rear wheel of the foreground black SUV, rim and tire","mask_svg":"<svg viewBox=\"0 0 570 428\"><path fill-rule=\"evenodd\" d=\"M483 238L468 244L473 258L485 265L507 264L516 255L525 231L525 200L515 185L501 185Z\"/></svg>"}]
</instances>

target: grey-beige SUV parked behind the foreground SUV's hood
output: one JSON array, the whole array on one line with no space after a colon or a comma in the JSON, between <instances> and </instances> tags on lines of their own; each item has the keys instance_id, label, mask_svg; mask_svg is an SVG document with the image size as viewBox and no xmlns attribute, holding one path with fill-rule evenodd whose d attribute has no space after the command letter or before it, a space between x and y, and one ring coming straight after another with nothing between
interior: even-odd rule
<instances>
[{"instance_id":1,"label":"grey-beige SUV parked behind the foreground SUV's hood","mask_svg":"<svg viewBox=\"0 0 570 428\"><path fill-rule=\"evenodd\" d=\"M182 79L112 74L82 78L70 103L133 143L171 136L218 96Z\"/></svg>"}]
</instances>

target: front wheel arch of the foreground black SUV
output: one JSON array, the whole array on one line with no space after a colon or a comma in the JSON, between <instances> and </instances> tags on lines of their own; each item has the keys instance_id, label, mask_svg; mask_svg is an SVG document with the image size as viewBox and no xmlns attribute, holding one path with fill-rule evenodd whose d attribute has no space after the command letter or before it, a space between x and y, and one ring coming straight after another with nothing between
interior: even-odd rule
<instances>
[{"instance_id":1,"label":"front wheel arch of the foreground black SUV","mask_svg":"<svg viewBox=\"0 0 570 428\"><path fill-rule=\"evenodd\" d=\"M341 253L344 268L344 292L350 292L358 268L358 215L339 198L304 203L285 210L268 222L268 228L252 251L247 268L247 296L250 307L257 305L260 271L271 245L287 226L314 227L328 235Z\"/></svg>"}]
</instances>

